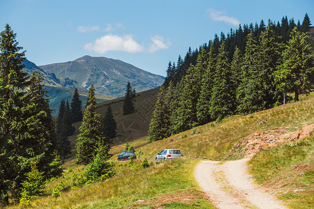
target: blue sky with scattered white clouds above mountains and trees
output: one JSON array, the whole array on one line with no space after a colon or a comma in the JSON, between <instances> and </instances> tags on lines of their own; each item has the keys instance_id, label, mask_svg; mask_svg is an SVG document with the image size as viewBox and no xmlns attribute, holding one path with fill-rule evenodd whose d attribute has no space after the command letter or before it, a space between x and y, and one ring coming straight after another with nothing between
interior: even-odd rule
<instances>
[{"instance_id":1,"label":"blue sky with scattered white clouds above mountains and trees","mask_svg":"<svg viewBox=\"0 0 314 209\"><path fill-rule=\"evenodd\" d=\"M313 12L313 0L0 0L0 31L10 24L36 65L105 56L165 76L169 61L215 33L305 13L314 24Z\"/></svg>"}]
</instances>

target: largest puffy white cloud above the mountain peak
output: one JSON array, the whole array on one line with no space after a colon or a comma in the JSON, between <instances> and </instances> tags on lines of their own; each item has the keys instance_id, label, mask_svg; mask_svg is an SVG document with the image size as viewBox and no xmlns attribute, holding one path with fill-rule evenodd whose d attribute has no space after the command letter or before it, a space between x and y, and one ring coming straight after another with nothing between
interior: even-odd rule
<instances>
[{"instance_id":1,"label":"largest puffy white cloud above the mountain peak","mask_svg":"<svg viewBox=\"0 0 314 209\"><path fill-rule=\"evenodd\" d=\"M103 54L108 51L121 52L142 52L143 47L133 40L131 35L117 36L109 34L95 40L94 43L87 43L84 49Z\"/></svg>"}]
</instances>

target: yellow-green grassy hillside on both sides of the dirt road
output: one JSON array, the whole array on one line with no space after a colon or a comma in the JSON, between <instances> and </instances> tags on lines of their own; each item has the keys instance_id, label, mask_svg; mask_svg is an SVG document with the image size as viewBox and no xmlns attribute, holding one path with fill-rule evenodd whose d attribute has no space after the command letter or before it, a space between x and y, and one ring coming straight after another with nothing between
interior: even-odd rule
<instances>
[{"instance_id":1,"label":"yellow-green grassy hillside on both sides of the dirt road","mask_svg":"<svg viewBox=\"0 0 314 209\"><path fill-rule=\"evenodd\" d=\"M151 98L151 92L147 91L145 93L147 93L147 97L137 97L135 105L137 109L139 107L149 107L148 101ZM103 113L105 105L108 103L99 104L98 111ZM113 100L110 103L112 103L115 116L123 120L121 100ZM126 117L121 124L123 123L125 128L127 126L125 125L126 121L135 124L140 123L141 118L141 114L137 112ZM147 118L142 118L142 120L145 121ZM266 123L260 125L257 122L258 120L266 120ZM212 206L207 201L207 197L200 192L193 176L193 169L199 159L232 160L241 158L245 153L239 155L239 149L234 149L234 146L247 141L256 132L271 134L271 132L284 130L285 133L288 133L300 130L301 127L313 123L314 95L311 95L302 98L300 102L292 102L246 116L232 116L225 118L222 123L209 123L195 127L193 130L151 144L147 144L147 136L133 138L136 140L129 137L125 141L130 141L129 144L137 150L138 160L135 164L119 162L115 166L116 175L113 178L77 188L73 176L80 174L84 167L75 164L74 156L70 157L65 164L67 172L64 173L62 178L49 183L46 187L47 197L32 201L32 207L211 208ZM79 123L75 125L78 126ZM127 132L134 130L136 129L129 128ZM251 161L253 168L263 168L262 173L264 176L262 177L257 175L261 171L251 171L255 178L263 183L265 187L271 187L271 191L280 194L282 199L291 198L291 208L302 208L308 204L311 206L311 203L313 203L313 130L308 132L312 133L307 139L303 139L304 142L293 141L291 146L281 145L276 148L267 148L262 153L257 154L256 158ZM171 138L174 139L173 142L170 141ZM75 136L72 140L74 139ZM289 140L287 138L287 141ZM124 144L120 144L124 142L123 140L116 139L115 142L116 145L112 146L110 150L110 153L113 154L113 161L117 160L115 156L124 149ZM293 145L293 143L296 145ZM299 148L296 149L295 147ZM180 148L184 153L184 158L154 165L156 153L163 148ZM241 150L246 148L244 146ZM284 155L285 153L291 154ZM144 157L152 162L147 169L140 166ZM264 159L268 160L270 165L263 165L266 161ZM277 161L277 159L281 160ZM273 161L271 162L271 160ZM278 169L274 167L274 164ZM281 171L285 171L286 174L290 173L290 176L283 174L284 172L281 173L284 176L278 175ZM284 180L276 185L279 178ZM57 185L62 186L63 192L61 196L55 198L50 194ZM278 191L281 193L278 193Z\"/></svg>"}]
</instances>

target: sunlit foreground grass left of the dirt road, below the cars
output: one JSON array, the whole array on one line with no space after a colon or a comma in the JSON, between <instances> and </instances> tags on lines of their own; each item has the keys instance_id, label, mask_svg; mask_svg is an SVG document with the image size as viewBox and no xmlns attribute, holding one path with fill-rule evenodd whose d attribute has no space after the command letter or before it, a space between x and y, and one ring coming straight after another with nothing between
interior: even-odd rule
<instances>
[{"instance_id":1,"label":"sunlit foreground grass left of the dirt road, below the cars","mask_svg":"<svg viewBox=\"0 0 314 209\"><path fill-rule=\"evenodd\" d=\"M57 198L36 199L31 207L154 208L169 204L170 208L211 208L193 175L190 175L197 162L181 158L151 165L147 169L140 167L140 160L131 167L128 167L128 162L119 162L115 167L117 175L113 178L63 192Z\"/></svg>"}]
</instances>

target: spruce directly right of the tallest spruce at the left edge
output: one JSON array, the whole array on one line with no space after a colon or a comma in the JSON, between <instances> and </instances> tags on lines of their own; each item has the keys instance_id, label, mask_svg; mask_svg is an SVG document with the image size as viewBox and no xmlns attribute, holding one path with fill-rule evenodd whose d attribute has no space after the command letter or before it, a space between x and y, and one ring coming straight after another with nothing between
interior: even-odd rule
<instances>
[{"instance_id":1,"label":"spruce directly right of the tallest spruce at the left edge","mask_svg":"<svg viewBox=\"0 0 314 209\"><path fill-rule=\"evenodd\" d=\"M45 172L46 178L59 176L62 173L60 164L53 164L56 161L56 150L58 148L57 137L54 130L52 110L49 108L47 91L42 83L43 77L40 73L30 77L30 85L26 90L29 108L27 109L28 125L27 132L32 139L33 155L36 156L38 169ZM29 149L29 148L26 148Z\"/></svg>"}]
</instances>

